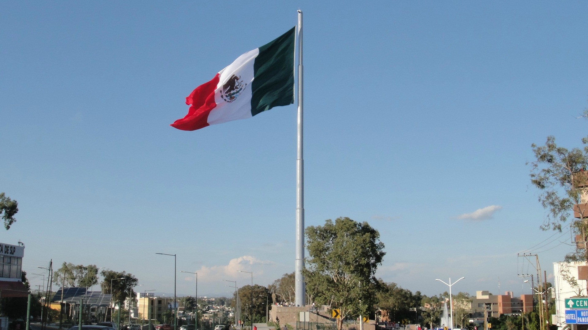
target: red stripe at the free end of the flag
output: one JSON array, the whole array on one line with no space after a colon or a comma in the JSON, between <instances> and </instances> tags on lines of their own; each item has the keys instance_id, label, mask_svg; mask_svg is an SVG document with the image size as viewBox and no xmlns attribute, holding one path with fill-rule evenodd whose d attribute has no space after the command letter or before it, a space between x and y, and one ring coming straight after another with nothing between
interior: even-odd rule
<instances>
[{"instance_id":1,"label":"red stripe at the free end of the flag","mask_svg":"<svg viewBox=\"0 0 588 330\"><path fill-rule=\"evenodd\" d=\"M215 89L219 83L219 76L220 73L216 73L215 78L196 87L190 96L186 97L186 105L191 105L188 115L170 126L180 130L197 130L209 126L208 114L216 107Z\"/></svg>"}]
</instances>

